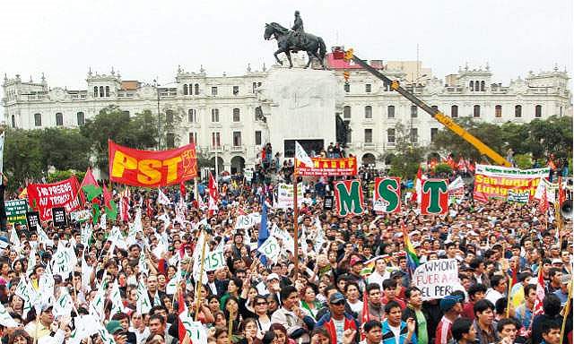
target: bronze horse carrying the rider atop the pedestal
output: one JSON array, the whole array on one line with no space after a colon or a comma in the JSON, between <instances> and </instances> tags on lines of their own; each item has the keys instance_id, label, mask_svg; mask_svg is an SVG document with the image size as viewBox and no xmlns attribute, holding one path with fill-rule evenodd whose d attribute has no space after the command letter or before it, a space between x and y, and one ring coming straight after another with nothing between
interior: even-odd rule
<instances>
[{"instance_id":1,"label":"bronze horse carrying the rider atop the pedestal","mask_svg":"<svg viewBox=\"0 0 574 344\"><path fill-rule=\"evenodd\" d=\"M309 56L309 62L305 65L305 68L309 67L312 58L315 57L319 60L323 69L326 69L324 63L326 47L325 42L320 37L306 32L297 35L294 31L283 28L276 22L265 23L265 34L263 37L265 40L277 39L277 47L279 48L275 51L274 56L278 64L283 65L283 62L277 58L277 55L285 53L289 60L289 68L291 68L293 66L291 63L291 52L296 53L302 50L307 52L307 56Z\"/></svg>"}]
</instances>

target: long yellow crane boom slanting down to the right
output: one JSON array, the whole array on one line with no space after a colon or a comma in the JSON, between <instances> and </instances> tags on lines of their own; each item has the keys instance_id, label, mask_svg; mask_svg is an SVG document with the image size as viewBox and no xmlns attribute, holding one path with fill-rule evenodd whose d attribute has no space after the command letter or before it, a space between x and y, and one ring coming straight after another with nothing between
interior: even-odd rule
<instances>
[{"instance_id":1,"label":"long yellow crane boom slanting down to the right","mask_svg":"<svg viewBox=\"0 0 574 344\"><path fill-rule=\"evenodd\" d=\"M476 148L481 154L489 157L492 159L496 164L500 166L505 166L507 168L512 167L512 164L509 163L507 159L504 159L499 153L492 150L489 146L484 144L482 141L474 137L473 134L468 133L465 128L460 125L457 125L450 117L445 116L439 109L435 109L429 107L424 101L416 97L412 92L405 90L398 81L390 80L386 75L383 73L378 72L375 68L367 64L365 61L361 60L361 58L355 56L352 53L352 49L345 51L344 53L345 60L352 60L355 64L361 65L367 72L375 75L378 79L383 81L385 84L389 85L392 90L396 90L399 94L401 94L404 98L411 100L414 105L417 107L421 107L424 112L431 115L434 119L439 121L441 125L446 126L450 131L456 133L466 142L472 144L474 148Z\"/></svg>"}]
</instances>

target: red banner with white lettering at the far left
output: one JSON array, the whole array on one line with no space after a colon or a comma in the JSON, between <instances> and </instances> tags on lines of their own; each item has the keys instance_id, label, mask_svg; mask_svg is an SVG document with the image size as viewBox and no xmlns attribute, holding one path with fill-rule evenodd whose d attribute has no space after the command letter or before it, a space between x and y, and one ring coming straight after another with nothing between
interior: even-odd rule
<instances>
[{"instance_id":1,"label":"red banner with white lettering at the far left","mask_svg":"<svg viewBox=\"0 0 574 344\"><path fill-rule=\"evenodd\" d=\"M46 221L52 219L52 208L65 207L66 213L80 209L79 190L75 176L52 184L29 184L28 202L39 211L39 218Z\"/></svg>"}]
</instances>

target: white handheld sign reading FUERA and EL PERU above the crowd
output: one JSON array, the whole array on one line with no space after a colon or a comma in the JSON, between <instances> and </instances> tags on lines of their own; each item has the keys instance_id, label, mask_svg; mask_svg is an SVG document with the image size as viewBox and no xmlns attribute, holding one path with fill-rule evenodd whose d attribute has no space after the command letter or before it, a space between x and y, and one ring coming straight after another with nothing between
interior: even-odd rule
<instances>
[{"instance_id":1,"label":"white handheld sign reading FUERA and EL PERU above the crowd","mask_svg":"<svg viewBox=\"0 0 574 344\"><path fill-rule=\"evenodd\" d=\"M438 259L419 265L413 273L413 285L421 289L422 300L446 297L455 290L464 290L458 280L456 259Z\"/></svg>"}]
</instances>

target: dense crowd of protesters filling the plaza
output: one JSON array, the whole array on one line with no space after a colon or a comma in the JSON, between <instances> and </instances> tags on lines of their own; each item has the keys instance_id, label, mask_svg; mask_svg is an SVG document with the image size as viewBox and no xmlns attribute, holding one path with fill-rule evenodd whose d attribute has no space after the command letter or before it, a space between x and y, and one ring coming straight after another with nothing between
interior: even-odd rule
<instances>
[{"instance_id":1,"label":"dense crowd of protesters filling the plaza","mask_svg":"<svg viewBox=\"0 0 574 344\"><path fill-rule=\"evenodd\" d=\"M2 342L190 342L180 329L183 312L202 323L205 340L215 344L572 343L572 227L563 217L559 225L552 208L541 213L535 202L474 202L469 189L445 216L422 216L410 200L397 213L377 214L365 197L365 213L340 217L324 210L323 197L333 188L329 178L319 178L304 181L294 219L291 209L274 207L276 185L264 182L256 175L253 182L233 177L220 183L217 211L202 207L209 203L203 188L199 200L188 185L185 202L178 191L165 192L173 201L167 204L156 202L155 191L133 189L128 220L105 228L96 223L87 239L90 221L64 228L42 222L47 237L9 223L1 238L8 245L0 252L0 320L8 314L18 325L2 326ZM264 212L266 220L236 229L239 216ZM298 271L281 240L276 262L257 251L261 223L292 236L294 221L302 236ZM124 238L133 236L125 248L113 239L115 227ZM455 259L463 289L425 299L413 284L404 235L420 263ZM13 236L20 245L13 245ZM197 288L191 271L200 236L208 251L223 247L225 263L206 271ZM158 250L162 243L167 250ZM64 276L52 273L63 247L76 257ZM23 299L21 286L45 292L47 280L54 282L52 295L33 305ZM539 280L544 285L537 287ZM141 288L151 304L144 311ZM56 303L65 293L73 306L61 314ZM94 304L102 299L97 314ZM107 333L78 338L81 315L94 313Z\"/></svg>"}]
</instances>

